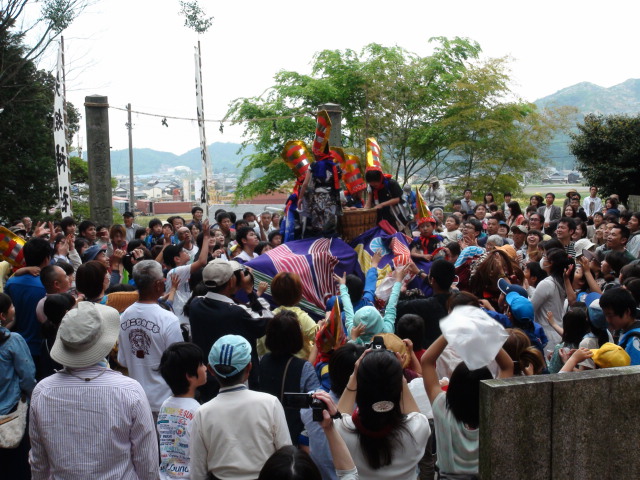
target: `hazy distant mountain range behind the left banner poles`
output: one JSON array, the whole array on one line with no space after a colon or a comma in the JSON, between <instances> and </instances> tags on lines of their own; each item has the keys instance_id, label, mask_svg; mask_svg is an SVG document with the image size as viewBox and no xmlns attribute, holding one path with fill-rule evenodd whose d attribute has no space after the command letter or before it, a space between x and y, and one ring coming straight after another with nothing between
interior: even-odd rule
<instances>
[{"instance_id":1,"label":"hazy distant mountain range behind the left banner poles","mask_svg":"<svg viewBox=\"0 0 640 480\"><path fill-rule=\"evenodd\" d=\"M248 147L245 153L238 155L239 143L212 143L209 145L209 158L213 163L214 173L240 173L242 158L251 153ZM86 158L86 157L85 157ZM186 166L196 172L202 169L200 149L194 148L182 155L159 152L150 148L133 149L133 170L136 175L161 173L169 168ZM113 150L111 152L111 175L129 175L129 150Z\"/></svg>"}]
</instances>

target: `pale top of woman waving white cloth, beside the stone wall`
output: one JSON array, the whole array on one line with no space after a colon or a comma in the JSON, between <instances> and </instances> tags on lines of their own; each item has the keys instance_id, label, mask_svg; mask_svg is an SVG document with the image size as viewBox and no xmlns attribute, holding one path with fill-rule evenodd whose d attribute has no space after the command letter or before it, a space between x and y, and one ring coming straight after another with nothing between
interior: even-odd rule
<instances>
[{"instance_id":1,"label":"pale top of woman waving white cloth, beside the stone wall","mask_svg":"<svg viewBox=\"0 0 640 480\"><path fill-rule=\"evenodd\" d=\"M447 408L444 392L433 401L433 423L436 430L437 465L443 473L478 474L480 430L471 430L456 420Z\"/></svg>"}]
</instances>

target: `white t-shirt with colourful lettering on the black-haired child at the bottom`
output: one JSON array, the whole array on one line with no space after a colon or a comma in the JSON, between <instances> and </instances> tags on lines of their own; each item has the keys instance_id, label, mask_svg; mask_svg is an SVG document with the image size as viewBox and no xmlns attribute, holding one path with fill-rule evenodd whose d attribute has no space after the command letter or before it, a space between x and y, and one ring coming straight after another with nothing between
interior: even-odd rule
<instances>
[{"instance_id":1,"label":"white t-shirt with colourful lettering on the black-haired child at the bottom","mask_svg":"<svg viewBox=\"0 0 640 480\"><path fill-rule=\"evenodd\" d=\"M200 404L193 398L167 398L158 413L160 478L188 479L191 420Z\"/></svg>"}]
</instances>

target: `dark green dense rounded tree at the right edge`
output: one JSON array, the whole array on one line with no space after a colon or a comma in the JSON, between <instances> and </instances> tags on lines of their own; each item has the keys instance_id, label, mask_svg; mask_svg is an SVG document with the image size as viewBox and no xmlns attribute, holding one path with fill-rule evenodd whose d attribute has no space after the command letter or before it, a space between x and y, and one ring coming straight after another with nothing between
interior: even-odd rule
<instances>
[{"instance_id":1,"label":"dark green dense rounded tree at the right edge","mask_svg":"<svg viewBox=\"0 0 640 480\"><path fill-rule=\"evenodd\" d=\"M640 115L590 114L571 135L570 150L589 185L623 204L638 193L640 178Z\"/></svg>"}]
</instances>

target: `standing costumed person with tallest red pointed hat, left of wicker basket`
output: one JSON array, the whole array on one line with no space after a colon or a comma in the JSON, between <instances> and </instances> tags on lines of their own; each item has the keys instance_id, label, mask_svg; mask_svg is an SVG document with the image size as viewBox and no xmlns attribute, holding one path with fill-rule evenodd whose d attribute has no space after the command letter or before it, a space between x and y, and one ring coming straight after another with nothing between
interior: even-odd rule
<instances>
[{"instance_id":1,"label":"standing costumed person with tallest red pointed hat, left of wicker basket","mask_svg":"<svg viewBox=\"0 0 640 480\"><path fill-rule=\"evenodd\" d=\"M338 217L342 215L340 202L340 167L328 147L331 121L323 110L318 114L316 136L313 141L315 162L307 169L300 188L303 206L303 236L335 236Z\"/></svg>"}]
</instances>

